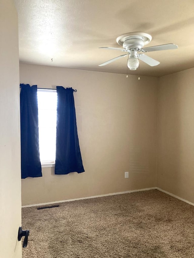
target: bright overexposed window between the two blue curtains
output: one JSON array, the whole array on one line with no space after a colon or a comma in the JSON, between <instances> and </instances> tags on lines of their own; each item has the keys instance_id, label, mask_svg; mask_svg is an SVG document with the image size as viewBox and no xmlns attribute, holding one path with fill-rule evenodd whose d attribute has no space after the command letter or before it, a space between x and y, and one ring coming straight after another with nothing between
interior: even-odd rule
<instances>
[{"instance_id":1,"label":"bright overexposed window between the two blue curtains","mask_svg":"<svg viewBox=\"0 0 194 258\"><path fill-rule=\"evenodd\" d=\"M41 164L55 162L57 91L38 89L38 126Z\"/></svg>"}]
</instances>

